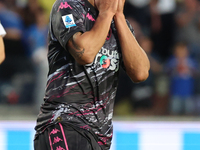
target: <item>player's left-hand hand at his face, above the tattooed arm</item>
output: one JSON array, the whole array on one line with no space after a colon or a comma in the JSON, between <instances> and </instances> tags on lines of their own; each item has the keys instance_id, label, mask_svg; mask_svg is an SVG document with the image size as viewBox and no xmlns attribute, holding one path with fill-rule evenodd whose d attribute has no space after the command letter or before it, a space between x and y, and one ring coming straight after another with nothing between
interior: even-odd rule
<instances>
[{"instance_id":1,"label":"player's left-hand hand at his face, above the tattooed arm","mask_svg":"<svg viewBox=\"0 0 200 150\"><path fill-rule=\"evenodd\" d=\"M99 13L112 13L115 15L119 0L94 0Z\"/></svg>"}]
</instances>

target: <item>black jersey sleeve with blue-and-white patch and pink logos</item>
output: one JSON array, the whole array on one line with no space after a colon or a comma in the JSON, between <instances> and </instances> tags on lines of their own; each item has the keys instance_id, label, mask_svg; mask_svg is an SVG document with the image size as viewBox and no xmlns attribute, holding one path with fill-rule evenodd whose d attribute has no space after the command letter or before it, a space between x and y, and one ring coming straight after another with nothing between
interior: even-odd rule
<instances>
[{"instance_id":1,"label":"black jersey sleeve with blue-and-white patch and pink logos","mask_svg":"<svg viewBox=\"0 0 200 150\"><path fill-rule=\"evenodd\" d=\"M50 20L50 32L66 49L68 40L77 32L85 32L83 7L78 1L56 2Z\"/></svg>"}]
</instances>

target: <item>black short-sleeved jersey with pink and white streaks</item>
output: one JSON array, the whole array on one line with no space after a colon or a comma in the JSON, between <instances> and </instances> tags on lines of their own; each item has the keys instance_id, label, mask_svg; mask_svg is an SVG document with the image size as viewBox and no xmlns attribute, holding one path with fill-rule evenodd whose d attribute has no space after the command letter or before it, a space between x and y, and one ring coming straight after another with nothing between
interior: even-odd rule
<instances>
[{"instance_id":1,"label":"black short-sleeved jersey with pink and white streaks","mask_svg":"<svg viewBox=\"0 0 200 150\"><path fill-rule=\"evenodd\" d=\"M48 80L35 129L39 134L62 121L89 131L107 150L112 139L113 105L122 63L114 21L93 63L79 65L66 46L75 33L89 31L97 17L98 11L87 0L54 3L50 16Z\"/></svg>"}]
</instances>

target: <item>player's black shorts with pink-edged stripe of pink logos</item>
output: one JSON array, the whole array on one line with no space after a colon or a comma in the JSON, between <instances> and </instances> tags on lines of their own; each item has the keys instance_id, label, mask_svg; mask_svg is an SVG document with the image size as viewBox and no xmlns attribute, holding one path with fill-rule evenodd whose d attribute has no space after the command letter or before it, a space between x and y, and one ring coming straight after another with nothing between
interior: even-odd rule
<instances>
[{"instance_id":1,"label":"player's black shorts with pink-edged stripe of pink logos","mask_svg":"<svg viewBox=\"0 0 200 150\"><path fill-rule=\"evenodd\" d=\"M34 150L102 150L87 131L57 123L34 140Z\"/></svg>"}]
</instances>

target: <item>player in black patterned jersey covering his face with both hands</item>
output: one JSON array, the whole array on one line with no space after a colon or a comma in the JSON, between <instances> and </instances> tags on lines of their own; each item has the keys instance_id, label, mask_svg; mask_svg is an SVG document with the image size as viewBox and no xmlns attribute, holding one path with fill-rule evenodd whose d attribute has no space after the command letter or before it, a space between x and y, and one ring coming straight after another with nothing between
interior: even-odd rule
<instances>
[{"instance_id":1,"label":"player in black patterned jersey covering his face with both hands","mask_svg":"<svg viewBox=\"0 0 200 150\"><path fill-rule=\"evenodd\" d=\"M122 66L134 82L149 60L126 21L125 0L57 0L49 29L49 73L35 150L108 150Z\"/></svg>"}]
</instances>

